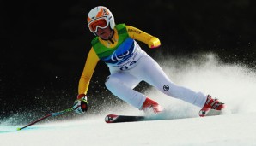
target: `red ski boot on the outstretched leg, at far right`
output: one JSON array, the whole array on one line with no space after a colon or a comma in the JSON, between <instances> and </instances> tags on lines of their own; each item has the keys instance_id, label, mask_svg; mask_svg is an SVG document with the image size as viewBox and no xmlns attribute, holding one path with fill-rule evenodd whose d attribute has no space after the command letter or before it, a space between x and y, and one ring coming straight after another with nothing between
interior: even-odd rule
<instances>
[{"instance_id":1,"label":"red ski boot on the outstretched leg, at far right","mask_svg":"<svg viewBox=\"0 0 256 146\"><path fill-rule=\"evenodd\" d=\"M199 116L204 117L221 114L222 108L225 108L224 103L218 101L216 98L213 99L208 95L204 107L199 111Z\"/></svg>"}]
</instances>

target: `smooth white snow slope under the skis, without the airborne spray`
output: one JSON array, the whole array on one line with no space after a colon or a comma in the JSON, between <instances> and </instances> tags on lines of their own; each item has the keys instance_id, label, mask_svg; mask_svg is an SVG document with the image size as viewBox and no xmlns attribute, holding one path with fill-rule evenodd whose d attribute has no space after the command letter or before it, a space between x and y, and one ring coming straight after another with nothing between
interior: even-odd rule
<instances>
[{"instance_id":1,"label":"smooth white snow slope under the skis, without the airborne spray","mask_svg":"<svg viewBox=\"0 0 256 146\"><path fill-rule=\"evenodd\" d=\"M17 127L17 126L15 126ZM102 118L1 133L0 145L255 145L256 113L106 124Z\"/></svg>"}]
</instances>

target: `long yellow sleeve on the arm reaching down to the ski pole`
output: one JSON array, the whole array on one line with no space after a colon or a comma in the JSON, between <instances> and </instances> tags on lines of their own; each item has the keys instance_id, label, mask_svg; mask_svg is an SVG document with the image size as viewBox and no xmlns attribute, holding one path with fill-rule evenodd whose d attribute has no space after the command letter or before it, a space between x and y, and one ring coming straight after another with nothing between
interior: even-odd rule
<instances>
[{"instance_id":1,"label":"long yellow sleeve on the arm reaching down to the ski pole","mask_svg":"<svg viewBox=\"0 0 256 146\"><path fill-rule=\"evenodd\" d=\"M85 66L83 68L81 78L79 80L78 95L79 94L85 94L85 95L87 94L89 82L93 76L94 69L99 60L100 59L99 59L98 55L96 55L94 49L91 48L91 50L88 53Z\"/></svg>"}]
</instances>

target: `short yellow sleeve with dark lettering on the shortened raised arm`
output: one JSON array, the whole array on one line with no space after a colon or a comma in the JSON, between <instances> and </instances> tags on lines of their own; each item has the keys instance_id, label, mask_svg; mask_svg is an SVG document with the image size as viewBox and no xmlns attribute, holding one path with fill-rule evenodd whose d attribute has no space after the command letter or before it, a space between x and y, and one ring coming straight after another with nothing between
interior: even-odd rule
<instances>
[{"instance_id":1,"label":"short yellow sleeve with dark lettering on the shortened raised arm","mask_svg":"<svg viewBox=\"0 0 256 146\"><path fill-rule=\"evenodd\" d=\"M156 48L161 45L160 40L149 33L143 32L133 26L126 26L126 30L129 36L133 39L148 44L149 48Z\"/></svg>"}]
</instances>

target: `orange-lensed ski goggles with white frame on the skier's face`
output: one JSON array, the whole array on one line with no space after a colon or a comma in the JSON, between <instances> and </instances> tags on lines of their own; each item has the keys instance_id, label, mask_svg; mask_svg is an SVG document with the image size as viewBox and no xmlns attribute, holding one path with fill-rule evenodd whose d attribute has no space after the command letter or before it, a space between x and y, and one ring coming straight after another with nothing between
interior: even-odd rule
<instances>
[{"instance_id":1,"label":"orange-lensed ski goggles with white frame on the skier's face","mask_svg":"<svg viewBox=\"0 0 256 146\"><path fill-rule=\"evenodd\" d=\"M108 24L109 23L105 18L101 18L98 20L93 20L90 23L88 23L88 28L91 32L94 33L98 31L98 28L107 28Z\"/></svg>"}]
</instances>

